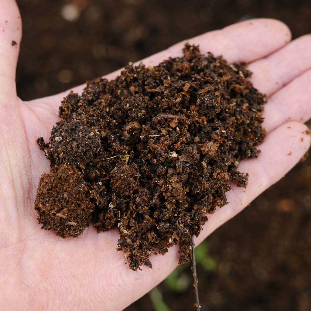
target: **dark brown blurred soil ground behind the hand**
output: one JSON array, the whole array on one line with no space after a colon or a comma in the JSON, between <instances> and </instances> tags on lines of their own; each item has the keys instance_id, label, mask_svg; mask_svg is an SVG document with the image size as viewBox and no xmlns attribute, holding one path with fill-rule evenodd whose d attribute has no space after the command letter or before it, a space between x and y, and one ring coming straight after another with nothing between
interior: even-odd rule
<instances>
[{"instance_id":1,"label":"dark brown blurred soil ground behind the hand","mask_svg":"<svg viewBox=\"0 0 311 311\"><path fill-rule=\"evenodd\" d=\"M24 35L16 80L23 100L65 91L251 17L280 19L293 38L311 32L311 2L302 0L17 2ZM311 158L196 252L202 311L310 311ZM126 311L193 310L192 289L190 267L179 267Z\"/></svg>"}]
</instances>

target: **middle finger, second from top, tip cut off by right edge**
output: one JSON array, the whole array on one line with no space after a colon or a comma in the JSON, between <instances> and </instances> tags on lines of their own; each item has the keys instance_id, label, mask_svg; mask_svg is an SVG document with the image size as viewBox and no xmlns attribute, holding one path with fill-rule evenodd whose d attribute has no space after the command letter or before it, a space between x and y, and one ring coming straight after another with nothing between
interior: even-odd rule
<instances>
[{"instance_id":1,"label":"middle finger, second from top, tip cut off by right edge","mask_svg":"<svg viewBox=\"0 0 311 311\"><path fill-rule=\"evenodd\" d=\"M267 96L311 68L311 35L304 35L272 55L249 64L253 85Z\"/></svg>"}]
</instances>

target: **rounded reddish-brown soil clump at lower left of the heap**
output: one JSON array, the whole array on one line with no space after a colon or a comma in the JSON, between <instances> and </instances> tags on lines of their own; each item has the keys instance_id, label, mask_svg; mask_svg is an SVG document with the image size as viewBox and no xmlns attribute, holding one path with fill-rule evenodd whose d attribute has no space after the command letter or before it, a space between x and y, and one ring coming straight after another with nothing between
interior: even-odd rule
<instances>
[{"instance_id":1,"label":"rounded reddish-brown soil clump at lower left of the heap","mask_svg":"<svg viewBox=\"0 0 311 311\"><path fill-rule=\"evenodd\" d=\"M54 229L62 238L79 235L89 226L94 203L88 184L75 166L61 164L40 179L35 200L42 229ZM42 221L41 221L42 220Z\"/></svg>"}]
</instances>

